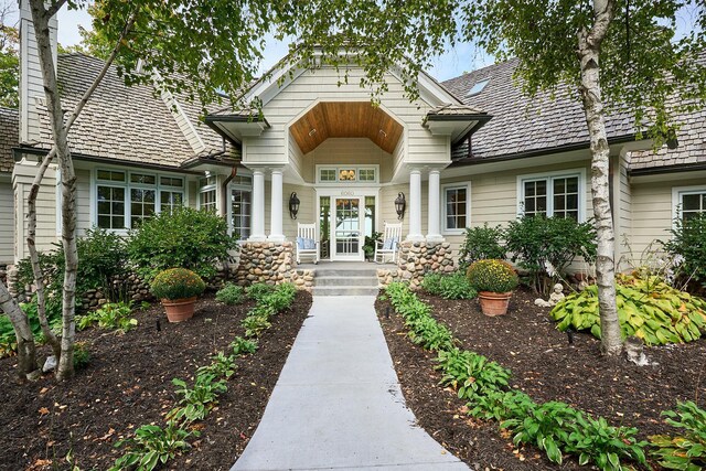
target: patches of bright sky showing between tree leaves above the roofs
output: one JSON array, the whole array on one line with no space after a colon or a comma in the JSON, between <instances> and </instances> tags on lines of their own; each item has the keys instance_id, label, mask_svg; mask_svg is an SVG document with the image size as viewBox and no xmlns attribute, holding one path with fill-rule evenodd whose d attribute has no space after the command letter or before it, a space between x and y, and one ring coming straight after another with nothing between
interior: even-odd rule
<instances>
[{"instance_id":1,"label":"patches of bright sky showing between tree leaves above the roofs","mask_svg":"<svg viewBox=\"0 0 706 471\"><path fill-rule=\"evenodd\" d=\"M6 2L15 3L14 0L4 0ZM15 3L17 4L17 3ZM7 23L13 24L18 21L17 7L14 14L8 18ZM78 44L81 35L78 26L90 29L90 15L86 10L68 10L66 7L58 12L58 42L63 46ZM265 72L275 65L280 58L287 54L287 44L276 41L268 41L265 49L265 60L260 64L260 71ZM428 69L435 78L446 81L458 77L464 72L471 72L486 65L491 65L494 61L492 57L480 54L470 44L459 44L457 47L449 47L446 54L432 58L432 67Z\"/></svg>"}]
</instances>

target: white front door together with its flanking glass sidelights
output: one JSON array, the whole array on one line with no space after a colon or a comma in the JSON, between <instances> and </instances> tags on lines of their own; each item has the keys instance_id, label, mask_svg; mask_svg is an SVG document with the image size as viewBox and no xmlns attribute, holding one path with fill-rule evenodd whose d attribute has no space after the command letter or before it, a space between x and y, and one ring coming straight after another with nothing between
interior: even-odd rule
<instances>
[{"instance_id":1,"label":"white front door together with its flanking glass sidelights","mask_svg":"<svg viewBox=\"0 0 706 471\"><path fill-rule=\"evenodd\" d=\"M332 261L363 261L366 236L375 231L377 195L351 191L319 196L321 258ZM375 191L377 193L377 191ZM368 250L370 251L370 250Z\"/></svg>"}]
</instances>

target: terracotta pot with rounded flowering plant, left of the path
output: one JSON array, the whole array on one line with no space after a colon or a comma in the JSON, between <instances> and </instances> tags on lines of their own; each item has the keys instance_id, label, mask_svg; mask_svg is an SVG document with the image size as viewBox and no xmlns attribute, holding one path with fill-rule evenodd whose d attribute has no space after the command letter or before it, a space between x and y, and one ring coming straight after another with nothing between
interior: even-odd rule
<instances>
[{"instance_id":1,"label":"terracotta pot with rounded flowering plant, left of the path","mask_svg":"<svg viewBox=\"0 0 706 471\"><path fill-rule=\"evenodd\" d=\"M191 270L170 268L159 272L150 288L161 299L169 322L181 322L194 314L196 297L206 289L206 283Z\"/></svg>"}]
</instances>

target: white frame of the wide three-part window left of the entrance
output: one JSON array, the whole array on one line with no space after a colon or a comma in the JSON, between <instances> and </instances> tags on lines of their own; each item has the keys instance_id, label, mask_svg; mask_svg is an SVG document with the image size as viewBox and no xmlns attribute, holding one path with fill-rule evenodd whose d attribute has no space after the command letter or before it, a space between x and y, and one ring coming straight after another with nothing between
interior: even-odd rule
<instances>
[{"instance_id":1,"label":"white frame of the wide three-part window left of the entrance","mask_svg":"<svg viewBox=\"0 0 706 471\"><path fill-rule=\"evenodd\" d=\"M122 172L125 173L124 182L116 182L113 180L99 180L98 171L107 171L107 172ZM132 174L141 174L141 175L152 175L154 176L154 184L146 184L146 183L131 183ZM172 179L181 179L182 186L172 186L172 185L162 185L161 178L168 176ZM140 169L129 170L129 169L120 169L120 168L110 168L110 167L98 167L92 171L90 178L93 180L90 189L90 223L94 227L98 227L98 186L113 186L113 188L122 188L125 189L125 227L124 229L106 229L116 234L127 234L131 228L130 221L132 218L132 207L131 207L131 189L139 190L154 190L154 214L159 214L162 211L162 202L161 202L161 191L171 191L174 193L182 194L182 204L188 204L188 181L186 176L179 174L173 175L171 173L160 173L150 170L141 171Z\"/></svg>"}]
</instances>

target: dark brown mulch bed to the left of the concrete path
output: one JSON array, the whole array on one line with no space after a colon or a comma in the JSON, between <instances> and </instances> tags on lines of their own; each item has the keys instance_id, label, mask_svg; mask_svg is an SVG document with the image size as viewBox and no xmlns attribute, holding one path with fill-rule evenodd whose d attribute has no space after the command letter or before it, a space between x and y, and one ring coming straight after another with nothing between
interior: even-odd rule
<instances>
[{"instance_id":1,"label":"dark brown mulch bed to the left of the concrete path","mask_svg":"<svg viewBox=\"0 0 706 471\"><path fill-rule=\"evenodd\" d=\"M45 375L20 385L13 358L0 361L0 469L66 469L69 450L81 469L107 469L122 454L116 441L145 424L163 426L176 399L171 379L192 379L212 354L243 335L240 320L252 306L226 307L207 296L186 322L169 323L158 306L137 312L138 327L125 335L79 332L77 339L90 344L92 361L65 384ZM311 296L298 292L291 309L274 318L257 353L237 360L227 393L197 424L201 437L170 469L233 465L261 418L310 306Z\"/></svg>"}]
</instances>

